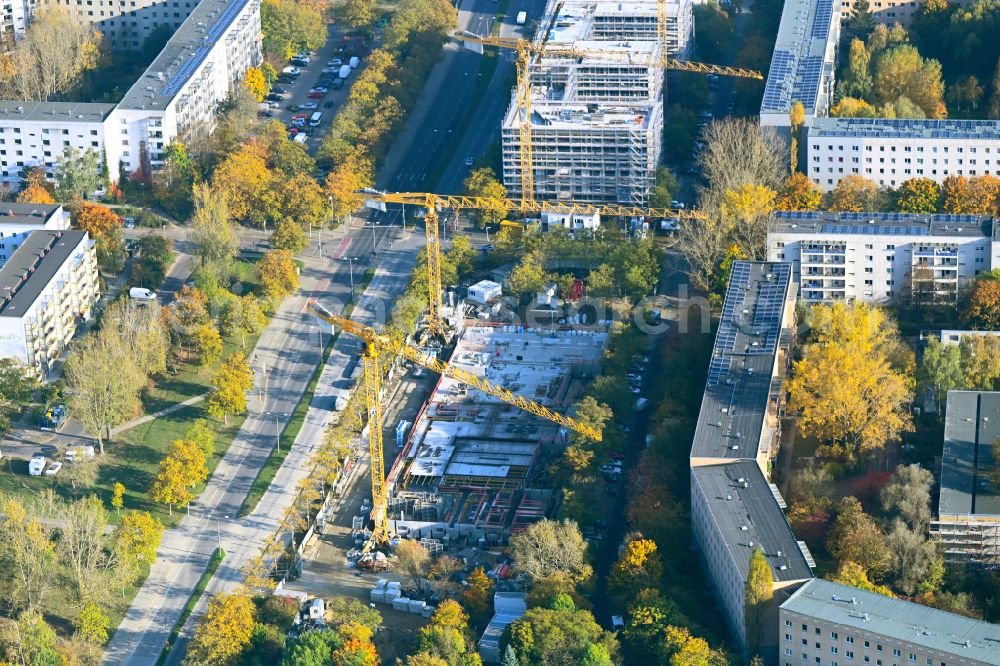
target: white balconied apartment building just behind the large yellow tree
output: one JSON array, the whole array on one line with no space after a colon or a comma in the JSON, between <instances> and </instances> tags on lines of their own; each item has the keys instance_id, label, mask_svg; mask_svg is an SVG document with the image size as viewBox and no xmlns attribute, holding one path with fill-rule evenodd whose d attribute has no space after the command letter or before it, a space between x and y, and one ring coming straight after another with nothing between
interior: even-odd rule
<instances>
[{"instance_id":1,"label":"white balconied apartment building just behind the large yellow tree","mask_svg":"<svg viewBox=\"0 0 1000 666\"><path fill-rule=\"evenodd\" d=\"M977 215L777 211L767 256L791 263L804 303L953 302L1000 267L1000 226Z\"/></svg>"}]
</instances>

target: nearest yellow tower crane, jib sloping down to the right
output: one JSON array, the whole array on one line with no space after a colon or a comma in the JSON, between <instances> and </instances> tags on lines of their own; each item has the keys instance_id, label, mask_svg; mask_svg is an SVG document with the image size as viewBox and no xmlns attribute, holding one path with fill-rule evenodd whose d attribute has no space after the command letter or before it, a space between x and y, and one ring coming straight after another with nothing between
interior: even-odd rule
<instances>
[{"instance_id":1,"label":"nearest yellow tower crane, jib sloping down to the right","mask_svg":"<svg viewBox=\"0 0 1000 666\"><path fill-rule=\"evenodd\" d=\"M404 342L396 342L388 336L381 335L370 326L365 326L341 315L333 314L315 301L310 302L309 308L321 321L331 326L339 326L341 330L361 338L365 345L363 356L365 368L365 403L368 408L368 447L371 456L372 473L372 516L375 521L371 538L365 543L364 550L366 552L384 548L395 536L392 528L389 526L389 509L385 488L385 457L382 452L382 373L379 369L379 357L382 355L405 358L416 365L433 370L438 374L450 377L472 388L479 389L487 395L523 409L530 414L548 419L594 441L601 441L601 432L599 430L580 423L569 416L553 412L537 402L528 400L522 395L509 391L502 386L497 386L483 377L462 370L446 361L441 361L416 347L412 347Z\"/></svg>"}]
</instances>

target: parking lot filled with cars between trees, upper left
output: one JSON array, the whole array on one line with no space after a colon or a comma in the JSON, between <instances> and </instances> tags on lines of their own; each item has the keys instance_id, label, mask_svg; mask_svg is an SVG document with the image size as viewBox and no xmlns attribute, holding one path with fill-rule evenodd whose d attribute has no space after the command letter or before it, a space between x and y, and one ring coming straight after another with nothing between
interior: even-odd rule
<instances>
[{"instance_id":1,"label":"parking lot filled with cars between trees, upper left","mask_svg":"<svg viewBox=\"0 0 1000 666\"><path fill-rule=\"evenodd\" d=\"M311 154L315 154L319 146L320 138L329 131L330 121L340 106L347 99L351 85L354 83L367 62L367 56L371 53L372 43L360 39L354 35L345 34L334 24L327 26L329 31L326 43L310 56L308 65L292 65L285 63L283 67L294 66L299 70L299 75L294 78L282 76L274 84L274 88L284 92L279 93L281 101L275 101L277 108L272 108L270 113L274 120L280 121L286 128L291 128L292 118L299 114L305 114L306 122L304 127L295 128L300 132L308 134L305 145ZM330 67L331 60L338 58L342 64L347 64L351 57L357 57L358 66L351 70L348 78L344 81L343 87L335 89L332 79L337 78L336 74L324 74L323 70ZM338 68L339 69L339 68ZM280 74L279 70L279 74ZM309 97L309 91L314 88L324 78L331 80L326 94L319 97ZM274 92L277 92L275 90ZM315 109L299 110L302 105L315 104ZM315 111L322 113L322 120L317 127L310 127L309 116Z\"/></svg>"}]
</instances>

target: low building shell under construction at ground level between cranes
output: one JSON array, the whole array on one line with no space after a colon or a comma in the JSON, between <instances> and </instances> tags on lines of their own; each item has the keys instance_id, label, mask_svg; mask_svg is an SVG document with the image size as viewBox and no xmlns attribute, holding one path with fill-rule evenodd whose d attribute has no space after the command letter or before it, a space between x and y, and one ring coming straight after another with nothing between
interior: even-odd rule
<instances>
[{"instance_id":1,"label":"low building shell under construction at ground level between cranes","mask_svg":"<svg viewBox=\"0 0 1000 666\"><path fill-rule=\"evenodd\" d=\"M565 413L599 373L606 340L603 327L473 326L450 363ZM551 491L532 486L567 441L558 425L441 377L389 473L396 530L499 543L552 508Z\"/></svg>"}]
</instances>

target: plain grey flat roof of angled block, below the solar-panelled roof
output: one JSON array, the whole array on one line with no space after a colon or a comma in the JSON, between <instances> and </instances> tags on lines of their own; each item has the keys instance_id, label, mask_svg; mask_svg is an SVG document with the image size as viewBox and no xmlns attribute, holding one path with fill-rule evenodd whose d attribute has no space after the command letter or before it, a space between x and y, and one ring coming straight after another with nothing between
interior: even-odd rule
<instances>
[{"instance_id":1,"label":"plain grey flat roof of angled block, below the solar-panelled roof","mask_svg":"<svg viewBox=\"0 0 1000 666\"><path fill-rule=\"evenodd\" d=\"M691 468L692 483L708 498L716 532L743 580L750 555L761 549L776 582L812 576L804 543L795 539L770 484L750 460ZM778 554L780 553L780 555Z\"/></svg>"}]
</instances>

